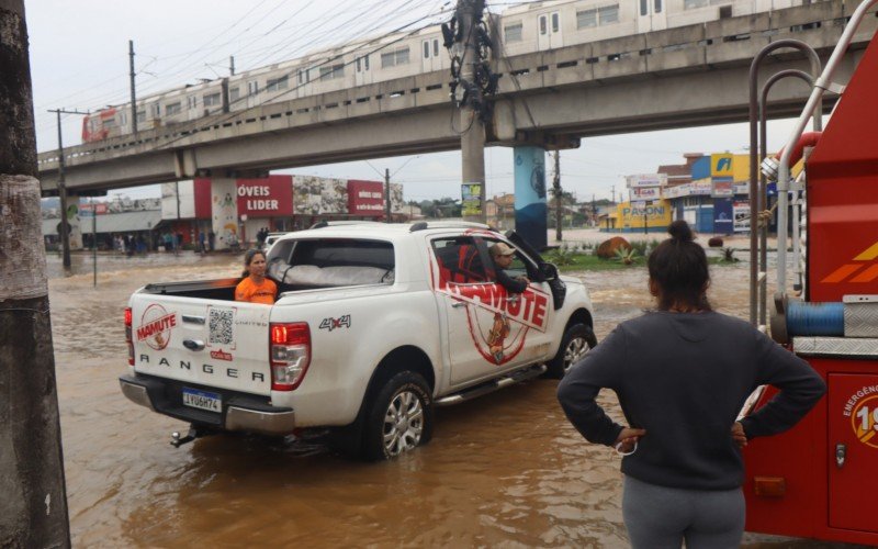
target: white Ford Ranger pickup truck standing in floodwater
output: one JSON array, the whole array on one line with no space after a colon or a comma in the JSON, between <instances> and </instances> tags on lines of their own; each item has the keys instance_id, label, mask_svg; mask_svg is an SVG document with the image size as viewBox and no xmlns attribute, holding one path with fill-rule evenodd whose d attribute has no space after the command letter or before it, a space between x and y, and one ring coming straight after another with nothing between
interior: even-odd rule
<instances>
[{"instance_id":1,"label":"white Ford Ranger pickup truck standing in floodwater","mask_svg":"<svg viewBox=\"0 0 878 549\"><path fill-rule=\"evenodd\" d=\"M516 250L511 294L488 247ZM273 305L238 279L149 284L125 311L122 392L189 436L304 429L364 459L429 440L432 408L542 373L596 345L585 285L515 233L462 223L344 224L289 233L268 255Z\"/></svg>"}]
</instances>

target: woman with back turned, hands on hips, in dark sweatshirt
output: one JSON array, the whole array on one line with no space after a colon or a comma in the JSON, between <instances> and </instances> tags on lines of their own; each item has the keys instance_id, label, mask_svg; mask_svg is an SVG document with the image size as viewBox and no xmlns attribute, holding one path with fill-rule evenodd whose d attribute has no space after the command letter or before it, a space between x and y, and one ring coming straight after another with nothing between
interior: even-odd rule
<instances>
[{"instance_id":1,"label":"woman with back turned, hands on hips, in dark sweatshirt","mask_svg":"<svg viewBox=\"0 0 878 549\"><path fill-rule=\"evenodd\" d=\"M825 392L808 362L744 321L711 311L703 248L684 221L649 257L657 310L619 324L558 388L567 418L622 459L622 514L635 548L738 547L747 439L792 427ZM735 422L756 386L780 392ZM616 391L629 427L597 405Z\"/></svg>"}]
</instances>

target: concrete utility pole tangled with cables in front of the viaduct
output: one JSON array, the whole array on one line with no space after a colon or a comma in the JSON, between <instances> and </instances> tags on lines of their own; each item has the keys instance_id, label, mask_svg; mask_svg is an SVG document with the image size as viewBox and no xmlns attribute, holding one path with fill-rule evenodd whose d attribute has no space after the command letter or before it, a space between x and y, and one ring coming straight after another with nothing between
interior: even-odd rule
<instances>
[{"instance_id":1,"label":"concrete utility pole tangled with cables in front of the viaduct","mask_svg":"<svg viewBox=\"0 0 878 549\"><path fill-rule=\"evenodd\" d=\"M458 0L458 24L463 36L461 58L461 86L466 90L460 110L460 150L464 183L479 184L480 213L471 221L486 223L485 212L485 126L479 108L482 105L482 90L476 83L479 58L479 33L475 29L485 9L484 0Z\"/></svg>"}]
</instances>

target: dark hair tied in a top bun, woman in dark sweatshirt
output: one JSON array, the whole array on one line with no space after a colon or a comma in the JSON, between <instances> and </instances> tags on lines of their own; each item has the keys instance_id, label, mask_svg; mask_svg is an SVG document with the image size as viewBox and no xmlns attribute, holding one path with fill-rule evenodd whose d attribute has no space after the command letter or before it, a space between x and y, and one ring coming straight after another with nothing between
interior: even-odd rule
<instances>
[{"instance_id":1,"label":"dark hair tied in a top bun, woman in dark sweatshirt","mask_svg":"<svg viewBox=\"0 0 878 549\"><path fill-rule=\"evenodd\" d=\"M705 248L695 243L695 235L685 221L675 221L667 227L671 238L656 246L646 260L650 279L660 288L658 309L667 311L674 305L710 311L707 287L710 272Z\"/></svg>"}]
</instances>

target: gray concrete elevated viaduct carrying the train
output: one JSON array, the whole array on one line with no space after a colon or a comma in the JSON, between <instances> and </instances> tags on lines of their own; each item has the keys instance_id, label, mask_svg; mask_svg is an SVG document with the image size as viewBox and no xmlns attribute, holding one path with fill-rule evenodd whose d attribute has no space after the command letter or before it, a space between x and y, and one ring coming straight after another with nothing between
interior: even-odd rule
<instances>
[{"instance_id":1,"label":"gray concrete elevated viaduct carrying the train","mask_svg":"<svg viewBox=\"0 0 878 549\"><path fill-rule=\"evenodd\" d=\"M571 147L578 138L747 120L747 72L767 44L796 38L826 57L856 2L732 18L561 49L500 57L492 145ZM878 27L869 16L838 71L846 82ZM808 70L796 53L764 64ZM430 72L267 104L65 149L71 193L199 176L313 166L459 148L449 75ZM798 114L808 91L786 79L770 116ZM40 155L44 193L57 189L56 152Z\"/></svg>"}]
</instances>

